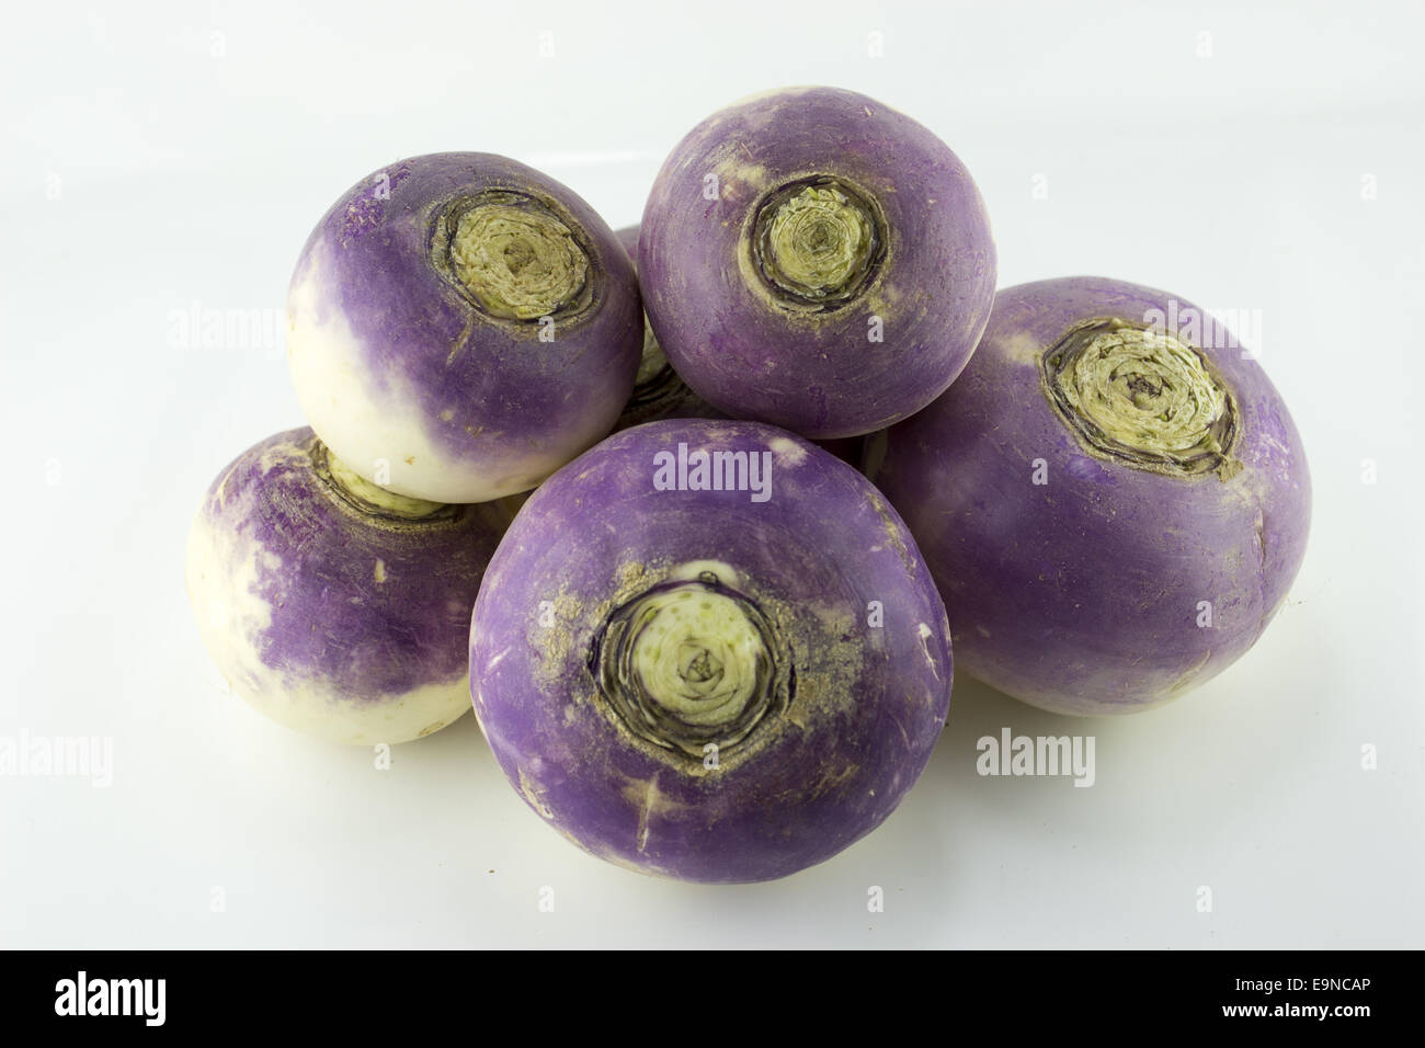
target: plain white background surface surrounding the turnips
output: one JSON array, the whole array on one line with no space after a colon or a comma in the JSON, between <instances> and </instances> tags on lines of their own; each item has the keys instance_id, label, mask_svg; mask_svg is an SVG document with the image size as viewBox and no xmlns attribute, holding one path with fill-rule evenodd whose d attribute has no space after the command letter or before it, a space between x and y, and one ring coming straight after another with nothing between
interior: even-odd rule
<instances>
[{"instance_id":1,"label":"plain white background surface surrounding the turnips","mask_svg":"<svg viewBox=\"0 0 1425 1048\"><path fill-rule=\"evenodd\" d=\"M1406 1L11 6L0 736L110 737L114 773L0 777L0 945L1425 945L1422 41ZM1102 274L1258 311L1315 488L1261 643L1129 719L959 679L882 828L727 888L577 851L470 717L378 771L227 694L184 540L219 468L302 422L281 309L332 200L482 150L630 224L684 131L797 83L939 133L1000 285ZM171 345L194 304L276 334ZM1003 726L1092 733L1097 783L979 777Z\"/></svg>"}]
</instances>

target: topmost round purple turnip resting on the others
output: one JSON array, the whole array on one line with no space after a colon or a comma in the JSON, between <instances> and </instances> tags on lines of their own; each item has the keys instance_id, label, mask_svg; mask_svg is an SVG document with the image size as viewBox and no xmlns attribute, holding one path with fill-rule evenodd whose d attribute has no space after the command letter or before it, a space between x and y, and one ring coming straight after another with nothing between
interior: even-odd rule
<instances>
[{"instance_id":1,"label":"topmost round purple turnip resting on the others","mask_svg":"<svg viewBox=\"0 0 1425 1048\"><path fill-rule=\"evenodd\" d=\"M638 268L694 391L812 439L933 401L995 295L965 165L909 117L828 87L737 103L678 143L644 208Z\"/></svg>"}]
</instances>

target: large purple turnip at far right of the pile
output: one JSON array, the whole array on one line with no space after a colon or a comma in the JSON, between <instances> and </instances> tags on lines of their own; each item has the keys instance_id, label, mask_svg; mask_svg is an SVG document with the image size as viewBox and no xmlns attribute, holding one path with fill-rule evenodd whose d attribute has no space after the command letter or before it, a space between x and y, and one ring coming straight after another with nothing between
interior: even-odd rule
<instances>
[{"instance_id":1,"label":"large purple turnip at far right of the pile","mask_svg":"<svg viewBox=\"0 0 1425 1048\"><path fill-rule=\"evenodd\" d=\"M1147 325L1206 361L1227 399L1211 426L1181 431L1217 433L1183 452L1198 472L1133 463L1121 441L1102 446L1119 423L1100 426L1094 445L1069 422L1083 415L1054 405L1046 361L1096 318L1129 325L1106 345ZM1140 451L1157 446L1141 436L1154 398L1191 386L1166 349L1154 354L1113 365L1117 388L1143 398L1123 416ZM1234 435L1220 439L1228 422ZM1097 277L1000 291L965 374L886 433L868 475L935 573L960 669L1070 714L1149 709L1230 666L1281 606L1311 518L1301 439L1257 359L1190 302Z\"/></svg>"}]
</instances>

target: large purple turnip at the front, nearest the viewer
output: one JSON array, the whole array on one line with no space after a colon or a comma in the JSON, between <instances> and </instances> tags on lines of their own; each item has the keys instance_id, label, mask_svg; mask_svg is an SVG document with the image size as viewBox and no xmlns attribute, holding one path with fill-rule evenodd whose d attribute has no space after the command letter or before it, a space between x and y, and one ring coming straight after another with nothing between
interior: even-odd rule
<instances>
[{"instance_id":1,"label":"large purple turnip at the front, nearest the viewer","mask_svg":"<svg viewBox=\"0 0 1425 1048\"><path fill-rule=\"evenodd\" d=\"M768 498L657 489L680 442L760 456ZM704 883L784 877L869 833L950 694L943 605L895 510L811 443L731 421L636 426L546 481L490 562L470 667L534 811L594 856Z\"/></svg>"}]
</instances>

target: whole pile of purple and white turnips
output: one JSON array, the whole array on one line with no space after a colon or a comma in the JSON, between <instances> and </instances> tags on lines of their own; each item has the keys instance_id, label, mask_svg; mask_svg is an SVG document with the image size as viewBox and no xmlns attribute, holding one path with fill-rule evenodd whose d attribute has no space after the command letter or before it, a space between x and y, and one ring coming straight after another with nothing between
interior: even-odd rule
<instances>
[{"instance_id":1,"label":"whole pile of purple and white turnips","mask_svg":"<svg viewBox=\"0 0 1425 1048\"><path fill-rule=\"evenodd\" d=\"M995 275L959 158L835 88L708 117L617 234L502 157L379 171L292 277L311 428L194 522L204 642L333 741L473 700L546 821L694 881L884 821L945 724L952 630L1043 709L1174 699L1301 563L1291 416L1181 299Z\"/></svg>"}]
</instances>

